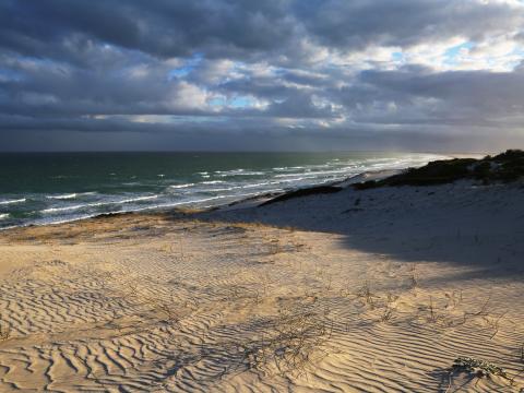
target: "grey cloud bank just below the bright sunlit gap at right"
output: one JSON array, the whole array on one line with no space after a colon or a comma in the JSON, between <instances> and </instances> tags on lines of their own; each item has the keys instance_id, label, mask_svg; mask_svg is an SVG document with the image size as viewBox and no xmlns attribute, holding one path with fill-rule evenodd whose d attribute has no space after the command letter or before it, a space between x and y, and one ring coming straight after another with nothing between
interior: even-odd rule
<instances>
[{"instance_id":1,"label":"grey cloud bank just below the bright sunlit gap at right","mask_svg":"<svg viewBox=\"0 0 524 393\"><path fill-rule=\"evenodd\" d=\"M368 97L402 103L404 114L412 110L407 118L390 114L396 123L524 124L524 72L367 71L359 81L372 91Z\"/></svg>"}]
</instances>

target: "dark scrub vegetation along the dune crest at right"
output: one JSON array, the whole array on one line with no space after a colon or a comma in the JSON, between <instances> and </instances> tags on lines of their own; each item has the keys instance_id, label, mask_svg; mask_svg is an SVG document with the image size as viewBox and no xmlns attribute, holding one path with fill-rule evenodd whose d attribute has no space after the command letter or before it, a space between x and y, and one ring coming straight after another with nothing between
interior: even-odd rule
<instances>
[{"instance_id":1,"label":"dark scrub vegetation along the dune crest at right","mask_svg":"<svg viewBox=\"0 0 524 393\"><path fill-rule=\"evenodd\" d=\"M382 180L354 184L357 190L395 186L433 186L456 180L478 180L484 184L511 182L524 177L524 152L509 150L495 157L481 159L453 158L434 160L420 168L408 168L402 174Z\"/></svg>"}]
</instances>

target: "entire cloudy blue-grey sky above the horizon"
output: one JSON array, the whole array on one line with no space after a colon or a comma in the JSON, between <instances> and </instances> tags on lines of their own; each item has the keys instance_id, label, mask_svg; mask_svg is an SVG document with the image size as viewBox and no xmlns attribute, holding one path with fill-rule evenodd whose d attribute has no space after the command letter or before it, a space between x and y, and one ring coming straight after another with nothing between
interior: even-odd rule
<instances>
[{"instance_id":1,"label":"entire cloudy blue-grey sky above the horizon","mask_svg":"<svg viewBox=\"0 0 524 393\"><path fill-rule=\"evenodd\" d=\"M0 0L0 151L524 147L520 0Z\"/></svg>"}]
</instances>

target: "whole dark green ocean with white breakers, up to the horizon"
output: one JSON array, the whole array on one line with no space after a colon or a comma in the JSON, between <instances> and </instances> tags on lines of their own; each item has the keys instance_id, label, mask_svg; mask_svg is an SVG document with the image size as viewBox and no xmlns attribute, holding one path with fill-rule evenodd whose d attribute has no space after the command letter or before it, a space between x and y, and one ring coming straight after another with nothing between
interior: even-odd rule
<instances>
[{"instance_id":1,"label":"whole dark green ocean with white breakers, up to the horizon","mask_svg":"<svg viewBox=\"0 0 524 393\"><path fill-rule=\"evenodd\" d=\"M0 229L107 213L216 206L439 158L369 152L4 153Z\"/></svg>"}]
</instances>

